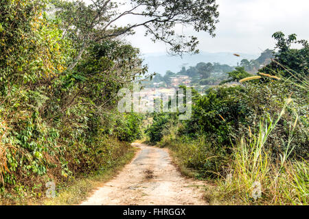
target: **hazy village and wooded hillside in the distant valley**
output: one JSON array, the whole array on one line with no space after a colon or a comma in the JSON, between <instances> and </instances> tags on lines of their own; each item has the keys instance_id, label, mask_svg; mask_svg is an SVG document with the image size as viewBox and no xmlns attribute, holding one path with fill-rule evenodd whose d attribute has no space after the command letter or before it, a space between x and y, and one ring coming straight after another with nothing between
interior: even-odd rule
<instances>
[{"instance_id":1,"label":"hazy village and wooded hillside in the distant valley","mask_svg":"<svg viewBox=\"0 0 309 219\"><path fill-rule=\"evenodd\" d=\"M266 49L261 53L260 57L256 60L247 60L243 57L239 57L239 62L237 66L229 66L228 64L220 63L205 63L199 62L196 66L186 67L181 66L181 70L178 73L173 73L167 70L165 75L161 73L156 73L156 75L150 80L142 82L144 88L143 93L146 96L151 96L152 94L174 94L175 88L179 86L185 86L187 88L194 88L200 94L205 94L205 90L211 87L216 87L222 85L222 82L226 86L231 86L237 81L233 81L229 73L237 70L244 71L246 73L255 74L258 69L263 68L271 62L274 55L274 51Z\"/></svg>"}]
</instances>

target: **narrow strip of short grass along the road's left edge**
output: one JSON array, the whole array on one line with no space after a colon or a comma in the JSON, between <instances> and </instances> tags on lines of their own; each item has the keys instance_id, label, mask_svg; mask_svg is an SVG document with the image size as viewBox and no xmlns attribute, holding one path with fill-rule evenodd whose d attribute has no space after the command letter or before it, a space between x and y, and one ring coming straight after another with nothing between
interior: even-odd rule
<instances>
[{"instance_id":1,"label":"narrow strip of short grass along the road's left edge","mask_svg":"<svg viewBox=\"0 0 309 219\"><path fill-rule=\"evenodd\" d=\"M71 183L60 185L57 188L56 198L41 198L29 205L79 205L91 195L91 192L102 186L102 183L115 177L126 164L128 164L139 149L131 147L123 157L119 157L111 166L80 179L72 180Z\"/></svg>"}]
</instances>

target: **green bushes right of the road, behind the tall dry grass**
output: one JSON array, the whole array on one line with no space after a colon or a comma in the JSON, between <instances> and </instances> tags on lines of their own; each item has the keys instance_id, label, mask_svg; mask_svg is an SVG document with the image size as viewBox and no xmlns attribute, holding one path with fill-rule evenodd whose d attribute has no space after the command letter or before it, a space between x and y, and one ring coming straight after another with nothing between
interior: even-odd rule
<instances>
[{"instance_id":1,"label":"green bushes right of the road, behind the tall dry grass","mask_svg":"<svg viewBox=\"0 0 309 219\"><path fill-rule=\"evenodd\" d=\"M192 117L179 122L173 140L168 126L172 120L163 115L155 117L148 136L161 146L171 146L181 162L200 172L200 177L224 175L233 144L257 133L261 121L267 123L270 116L280 114L289 98L293 101L286 106L264 149L274 163L288 146L293 148L289 160L309 158L308 92L294 83L260 79L240 86L211 88L205 96L196 97Z\"/></svg>"}]
</instances>

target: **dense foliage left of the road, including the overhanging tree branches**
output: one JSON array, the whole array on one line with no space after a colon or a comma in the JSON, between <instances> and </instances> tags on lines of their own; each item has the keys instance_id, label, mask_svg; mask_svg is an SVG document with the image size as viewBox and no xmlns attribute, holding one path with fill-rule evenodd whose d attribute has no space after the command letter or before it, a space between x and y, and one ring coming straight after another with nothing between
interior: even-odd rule
<instances>
[{"instance_id":1,"label":"dense foliage left of the road, including the overhanging tree branches","mask_svg":"<svg viewBox=\"0 0 309 219\"><path fill-rule=\"evenodd\" d=\"M141 137L143 116L118 113L117 92L147 67L139 50L118 36L143 26L172 53L196 53L197 38L175 34L174 27L214 36L218 18L214 0L118 6L109 0L1 1L1 200L42 196L47 181L104 170ZM129 16L148 21L115 25Z\"/></svg>"}]
</instances>

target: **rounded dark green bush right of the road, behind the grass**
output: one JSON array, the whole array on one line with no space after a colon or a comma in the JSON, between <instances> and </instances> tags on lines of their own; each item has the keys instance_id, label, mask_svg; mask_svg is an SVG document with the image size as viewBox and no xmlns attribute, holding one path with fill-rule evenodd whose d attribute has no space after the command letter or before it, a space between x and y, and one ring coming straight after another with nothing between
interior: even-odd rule
<instances>
[{"instance_id":1,"label":"rounded dark green bush right of the road, behind the grass","mask_svg":"<svg viewBox=\"0 0 309 219\"><path fill-rule=\"evenodd\" d=\"M181 133L192 138L205 135L218 144L229 143L233 127L244 122L249 113L247 105L237 99L241 87L209 89L192 107L192 117L185 120Z\"/></svg>"}]
</instances>

